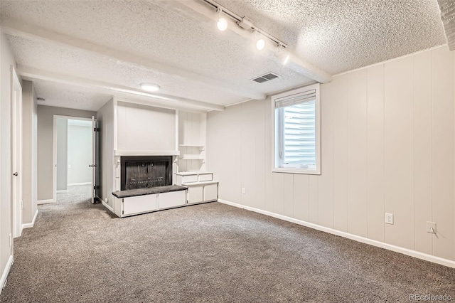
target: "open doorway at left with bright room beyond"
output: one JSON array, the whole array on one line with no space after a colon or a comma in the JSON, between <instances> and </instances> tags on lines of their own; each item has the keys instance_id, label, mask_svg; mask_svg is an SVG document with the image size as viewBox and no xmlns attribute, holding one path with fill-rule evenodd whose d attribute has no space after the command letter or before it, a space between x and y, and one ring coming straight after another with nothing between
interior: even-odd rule
<instances>
[{"instance_id":1,"label":"open doorway at left with bright room beyond","mask_svg":"<svg viewBox=\"0 0 455 303\"><path fill-rule=\"evenodd\" d=\"M55 116L56 201L92 198L92 119Z\"/></svg>"}]
</instances>

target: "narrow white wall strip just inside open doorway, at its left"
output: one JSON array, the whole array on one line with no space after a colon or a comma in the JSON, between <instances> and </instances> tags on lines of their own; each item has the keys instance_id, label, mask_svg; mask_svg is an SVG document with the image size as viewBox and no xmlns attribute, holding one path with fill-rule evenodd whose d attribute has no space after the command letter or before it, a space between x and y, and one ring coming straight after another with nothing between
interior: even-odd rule
<instances>
[{"instance_id":1,"label":"narrow white wall strip just inside open doorway, at its left","mask_svg":"<svg viewBox=\"0 0 455 303\"><path fill-rule=\"evenodd\" d=\"M68 190L68 119L56 120L57 191Z\"/></svg>"}]
</instances>

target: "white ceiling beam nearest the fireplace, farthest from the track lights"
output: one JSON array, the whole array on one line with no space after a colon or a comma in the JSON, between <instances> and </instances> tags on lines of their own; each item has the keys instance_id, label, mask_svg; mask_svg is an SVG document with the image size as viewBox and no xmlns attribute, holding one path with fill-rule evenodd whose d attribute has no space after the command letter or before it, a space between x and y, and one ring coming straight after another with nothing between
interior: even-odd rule
<instances>
[{"instance_id":1,"label":"white ceiling beam nearest the fireplace, farthest from the track lights","mask_svg":"<svg viewBox=\"0 0 455 303\"><path fill-rule=\"evenodd\" d=\"M141 90L133 90L129 87L124 87L121 85L113 85L111 83L104 83L97 80L87 80L84 78L73 77L70 75L62 75L59 73L50 72L48 70L40 70L23 65L18 65L17 73L18 75L21 75L23 77L33 79L47 80L55 83L75 85L79 87L92 87L96 88L97 90L100 90L100 92L115 95L122 100L131 99L141 100L141 104L152 105L151 102L154 102L154 104L177 105L205 111L210 110L222 111L225 109L223 105L214 105L212 103L201 102L181 97L173 97L169 95L156 95L149 92L143 92Z\"/></svg>"}]
</instances>

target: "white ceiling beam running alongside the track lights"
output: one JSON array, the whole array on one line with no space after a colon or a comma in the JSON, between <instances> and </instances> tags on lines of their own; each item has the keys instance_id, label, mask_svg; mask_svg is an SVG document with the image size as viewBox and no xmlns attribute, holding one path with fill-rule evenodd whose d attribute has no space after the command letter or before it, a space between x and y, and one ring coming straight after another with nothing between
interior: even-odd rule
<instances>
[{"instance_id":1,"label":"white ceiling beam running alongside the track lights","mask_svg":"<svg viewBox=\"0 0 455 303\"><path fill-rule=\"evenodd\" d=\"M213 2L214 1L210 1ZM165 5L166 1L160 2L160 5ZM205 20L205 22L213 23L215 26L216 21L218 20L218 15L215 14L215 9L210 7L208 4L205 4L204 1L201 0L186 0L186 1L172 1L171 4L168 4L168 8L178 9L178 13L186 14L186 16L193 17L199 20ZM177 11L177 10L176 10ZM195 16L195 13L198 16ZM231 31L232 33L236 33L238 36L242 37L243 39L252 40L252 31L245 30L235 23L232 18L226 17L228 21L228 29L227 31ZM277 37L278 38L278 37ZM266 46L267 51L262 50L260 52L266 58L271 60L279 60L274 56L274 53L277 52L277 45L266 39ZM289 51L289 50L287 50ZM291 70L294 70L296 73L304 75L307 78L312 80L316 80L319 83L328 83L331 82L332 76L327 73L325 70L318 68L317 66L309 63L308 61L299 57L295 53L291 53L291 57L289 59L289 63L287 67Z\"/></svg>"}]
</instances>

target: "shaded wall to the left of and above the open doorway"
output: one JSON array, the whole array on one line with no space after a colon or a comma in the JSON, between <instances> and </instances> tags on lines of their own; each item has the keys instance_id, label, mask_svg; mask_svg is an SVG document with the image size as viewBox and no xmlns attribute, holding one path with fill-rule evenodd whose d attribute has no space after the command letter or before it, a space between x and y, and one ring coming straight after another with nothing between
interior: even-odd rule
<instances>
[{"instance_id":1,"label":"shaded wall to the left of and above the open doorway","mask_svg":"<svg viewBox=\"0 0 455 303\"><path fill-rule=\"evenodd\" d=\"M38 105L38 201L53 199L53 116L91 118L96 112Z\"/></svg>"}]
</instances>

